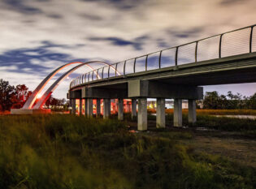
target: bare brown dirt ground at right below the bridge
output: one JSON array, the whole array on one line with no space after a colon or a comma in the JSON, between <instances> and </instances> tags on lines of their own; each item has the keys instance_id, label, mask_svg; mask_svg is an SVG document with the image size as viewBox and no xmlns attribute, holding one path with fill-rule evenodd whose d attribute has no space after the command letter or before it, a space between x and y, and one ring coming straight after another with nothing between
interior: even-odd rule
<instances>
[{"instance_id":1,"label":"bare brown dirt ground at right below the bridge","mask_svg":"<svg viewBox=\"0 0 256 189\"><path fill-rule=\"evenodd\" d=\"M149 121L149 131L144 135L158 135L155 130L155 122ZM128 122L131 130L137 129L137 122ZM247 137L239 132L207 131L195 128L174 128L168 127L165 130L173 132L175 135L189 133L190 138L177 137L176 141L192 147L195 152L207 152L210 154L226 157L231 161L236 161L241 165L249 165L256 168L256 139ZM163 132L162 132L163 133ZM160 134L159 134L160 135Z\"/></svg>"}]
</instances>

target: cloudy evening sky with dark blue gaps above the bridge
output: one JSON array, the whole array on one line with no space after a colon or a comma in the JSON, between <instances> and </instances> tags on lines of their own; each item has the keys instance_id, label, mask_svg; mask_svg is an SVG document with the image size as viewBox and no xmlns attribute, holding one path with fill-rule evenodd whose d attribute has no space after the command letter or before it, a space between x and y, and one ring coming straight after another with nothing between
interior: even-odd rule
<instances>
[{"instance_id":1,"label":"cloudy evening sky with dark blue gaps above the bridge","mask_svg":"<svg viewBox=\"0 0 256 189\"><path fill-rule=\"evenodd\" d=\"M33 90L67 62L120 62L256 24L255 10L255 0L0 0L0 79ZM54 97L66 97L72 78L88 71L70 75ZM204 91L250 96L255 88L232 84Z\"/></svg>"}]
</instances>

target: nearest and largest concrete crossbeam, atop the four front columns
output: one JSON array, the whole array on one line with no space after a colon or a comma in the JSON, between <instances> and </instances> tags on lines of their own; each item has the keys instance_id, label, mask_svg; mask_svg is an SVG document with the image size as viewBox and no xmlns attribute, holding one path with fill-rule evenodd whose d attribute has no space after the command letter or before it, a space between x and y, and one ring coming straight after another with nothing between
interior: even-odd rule
<instances>
[{"instance_id":1,"label":"nearest and largest concrete crossbeam, atop the four front columns","mask_svg":"<svg viewBox=\"0 0 256 189\"><path fill-rule=\"evenodd\" d=\"M131 80L128 97L202 99L203 88L191 85L171 85L157 81Z\"/></svg>"}]
</instances>

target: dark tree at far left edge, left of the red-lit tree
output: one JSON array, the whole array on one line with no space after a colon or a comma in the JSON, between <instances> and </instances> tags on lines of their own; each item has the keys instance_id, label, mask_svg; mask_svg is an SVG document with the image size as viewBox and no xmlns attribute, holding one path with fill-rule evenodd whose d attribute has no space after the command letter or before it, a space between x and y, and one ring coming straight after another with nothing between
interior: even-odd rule
<instances>
[{"instance_id":1,"label":"dark tree at far left edge, left of the red-lit tree","mask_svg":"<svg viewBox=\"0 0 256 189\"><path fill-rule=\"evenodd\" d=\"M12 99L15 93L15 87L8 81L0 79L0 108L1 111L11 110Z\"/></svg>"}]
</instances>

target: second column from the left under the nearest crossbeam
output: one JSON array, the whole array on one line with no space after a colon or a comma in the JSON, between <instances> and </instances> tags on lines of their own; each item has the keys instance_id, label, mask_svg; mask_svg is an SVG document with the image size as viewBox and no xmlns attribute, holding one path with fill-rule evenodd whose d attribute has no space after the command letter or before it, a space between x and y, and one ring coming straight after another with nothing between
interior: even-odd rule
<instances>
[{"instance_id":1,"label":"second column from the left under the nearest crossbeam","mask_svg":"<svg viewBox=\"0 0 256 189\"><path fill-rule=\"evenodd\" d=\"M165 127L165 99L157 98L156 127Z\"/></svg>"}]
</instances>

